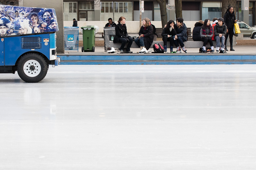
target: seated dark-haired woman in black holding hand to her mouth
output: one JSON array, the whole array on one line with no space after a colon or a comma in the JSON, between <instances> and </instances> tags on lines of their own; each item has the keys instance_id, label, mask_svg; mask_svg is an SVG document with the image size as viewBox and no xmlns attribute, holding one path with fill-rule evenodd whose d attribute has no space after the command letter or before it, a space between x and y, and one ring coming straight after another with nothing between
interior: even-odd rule
<instances>
[{"instance_id":1,"label":"seated dark-haired woman in black holding hand to her mouth","mask_svg":"<svg viewBox=\"0 0 256 170\"><path fill-rule=\"evenodd\" d=\"M164 41L164 52L167 52L167 41L170 41L170 52L173 53L173 37L177 34L176 30L174 29L175 22L173 20L168 21L166 27L164 27L162 31L162 37Z\"/></svg>"}]
</instances>

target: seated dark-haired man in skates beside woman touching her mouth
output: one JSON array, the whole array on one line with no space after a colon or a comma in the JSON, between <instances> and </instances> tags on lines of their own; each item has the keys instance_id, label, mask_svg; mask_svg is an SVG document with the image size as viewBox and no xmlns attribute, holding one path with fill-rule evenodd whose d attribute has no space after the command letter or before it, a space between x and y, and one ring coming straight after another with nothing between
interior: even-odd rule
<instances>
[{"instance_id":1,"label":"seated dark-haired man in skates beside woman touching her mouth","mask_svg":"<svg viewBox=\"0 0 256 170\"><path fill-rule=\"evenodd\" d=\"M177 18L176 24L175 24L175 30L177 34L174 37L174 44L177 47L176 52L181 53L181 49L187 53L187 49L185 48L184 41L188 41L188 35L187 35L187 26L183 23L183 18ZM180 44L180 46L179 46Z\"/></svg>"}]
</instances>

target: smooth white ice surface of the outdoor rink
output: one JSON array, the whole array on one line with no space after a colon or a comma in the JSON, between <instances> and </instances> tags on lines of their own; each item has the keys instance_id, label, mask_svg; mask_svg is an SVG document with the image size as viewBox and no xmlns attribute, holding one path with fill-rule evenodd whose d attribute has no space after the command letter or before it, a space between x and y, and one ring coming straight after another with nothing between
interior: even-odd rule
<instances>
[{"instance_id":1,"label":"smooth white ice surface of the outdoor rink","mask_svg":"<svg viewBox=\"0 0 256 170\"><path fill-rule=\"evenodd\" d=\"M1 170L255 170L256 65L0 74Z\"/></svg>"}]
</instances>

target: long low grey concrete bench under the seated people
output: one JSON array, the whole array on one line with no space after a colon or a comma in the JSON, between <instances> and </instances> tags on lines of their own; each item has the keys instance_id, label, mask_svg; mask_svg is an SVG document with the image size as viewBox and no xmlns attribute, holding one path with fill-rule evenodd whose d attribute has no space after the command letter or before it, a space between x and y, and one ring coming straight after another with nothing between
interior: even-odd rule
<instances>
[{"instance_id":1,"label":"long low grey concrete bench under the seated people","mask_svg":"<svg viewBox=\"0 0 256 170\"><path fill-rule=\"evenodd\" d=\"M153 48L153 45L155 43L159 43L164 47L164 42L163 41L153 41L153 43L151 44L150 48ZM186 41L184 42L184 45L186 48L202 48L203 46L203 42L202 41ZM229 46L229 42L227 42L227 45ZM216 41L213 41L213 46L214 48L216 47ZM114 48L120 48L121 47L121 43L113 43L113 41L110 41L110 47L114 47ZM127 47L127 44L124 46L124 48ZM170 42L167 41L167 48L170 47ZM173 48L175 47L175 45L173 44ZM210 44L207 43L206 48L210 48ZM133 41L132 42L132 46L131 48L139 48L138 45Z\"/></svg>"}]
</instances>

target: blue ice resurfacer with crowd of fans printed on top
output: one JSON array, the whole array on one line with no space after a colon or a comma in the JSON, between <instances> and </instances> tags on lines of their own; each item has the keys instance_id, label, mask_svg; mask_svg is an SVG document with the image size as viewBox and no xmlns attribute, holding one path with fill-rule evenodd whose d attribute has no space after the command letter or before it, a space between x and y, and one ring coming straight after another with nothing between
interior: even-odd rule
<instances>
[{"instance_id":1,"label":"blue ice resurfacer with crowd of fans printed on top","mask_svg":"<svg viewBox=\"0 0 256 170\"><path fill-rule=\"evenodd\" d=\"M36 83L44 79L49 65L57 66L56 13L49 8L0 4L0 73L15 73Z\"/></svg>"}]
</instances>

